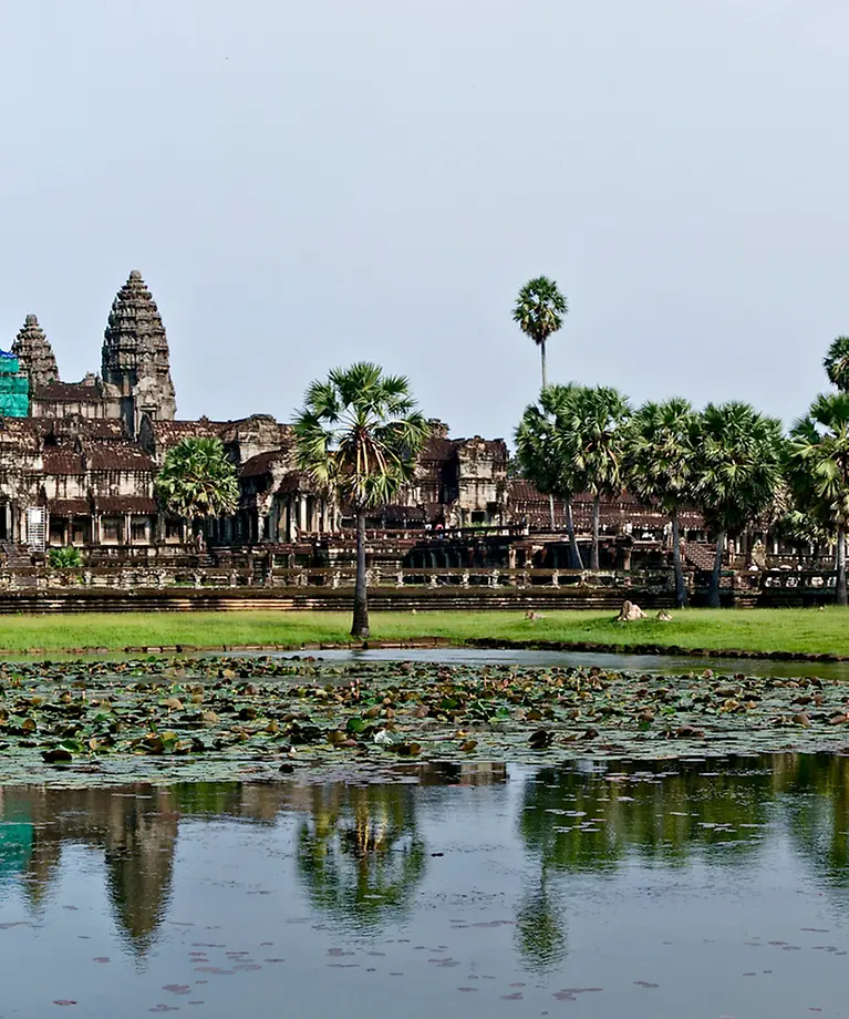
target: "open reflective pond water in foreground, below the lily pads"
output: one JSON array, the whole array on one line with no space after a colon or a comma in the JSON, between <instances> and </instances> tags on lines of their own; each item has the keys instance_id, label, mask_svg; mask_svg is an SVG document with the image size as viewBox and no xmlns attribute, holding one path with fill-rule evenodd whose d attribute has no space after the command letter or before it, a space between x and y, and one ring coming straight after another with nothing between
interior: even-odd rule
<instances>
[{"instance_id":1,"label":"open reflective pond water in foreground, below the lily pads","mask_svg":"<svg viewBox=\"0 0 849 1019\"><path fill-rule=\"evenodd\" d=\"M0 1017L849 1015L849 758L615 769L7 789Z\"/></svg>"}]
</instances>

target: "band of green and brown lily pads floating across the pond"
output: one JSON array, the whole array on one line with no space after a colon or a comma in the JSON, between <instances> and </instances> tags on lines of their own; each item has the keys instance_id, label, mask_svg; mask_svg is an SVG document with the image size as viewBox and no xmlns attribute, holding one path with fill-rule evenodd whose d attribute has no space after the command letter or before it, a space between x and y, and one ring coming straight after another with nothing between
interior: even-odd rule
<instances>
[{"instance_id":1,"label":"band of green and brown lily pads floating across the pond","mask_svg":"<svg viewBox=\"0 0 849 1019\"><path fill-rule=\"evenodd\" d=\"M209 657L0 665L0 782L849 749L839 680Z\"/></svg>"}]
</instances>

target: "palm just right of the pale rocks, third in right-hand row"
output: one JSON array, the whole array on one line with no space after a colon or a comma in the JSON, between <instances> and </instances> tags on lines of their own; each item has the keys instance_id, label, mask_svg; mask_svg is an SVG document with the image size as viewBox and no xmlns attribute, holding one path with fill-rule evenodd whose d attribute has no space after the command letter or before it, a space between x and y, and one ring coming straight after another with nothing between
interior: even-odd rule
<instances>
[{"instance_id":1,"label":"palm just right of the pale rocks, third in right-hand row","mask_svg":"<svg viewBox=\"0 0 849 1019\"><path fill-rule=\"evenodd\" d=\"M693 503L693 461L696 414L687 400L673 397L663 403L644 403L625 433L625 483L644 503L659 505L672 524L675 600L687 601L681 563L682 507Z\"/></svg>"}]
</instances>

